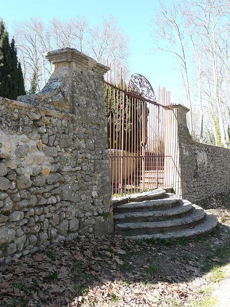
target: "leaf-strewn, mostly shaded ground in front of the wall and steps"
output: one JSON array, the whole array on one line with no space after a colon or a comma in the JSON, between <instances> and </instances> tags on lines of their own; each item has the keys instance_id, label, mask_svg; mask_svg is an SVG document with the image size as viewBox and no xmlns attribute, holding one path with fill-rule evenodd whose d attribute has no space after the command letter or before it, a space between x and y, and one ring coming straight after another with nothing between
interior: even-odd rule
<instances>
[{"instance_id":1,"label":"leaf-strewn, mostly shaded ground in front of the wall and steps","mask_svg":"<svg viewBox=\"0 0 230 307\"><path fill-rule=\"evenodd\" d=\"M183 306L230 262L229 205L208 207L222 224L204 237L110 235L15 259L0 268L0 306Z\"/></svg>"}]
</instances>

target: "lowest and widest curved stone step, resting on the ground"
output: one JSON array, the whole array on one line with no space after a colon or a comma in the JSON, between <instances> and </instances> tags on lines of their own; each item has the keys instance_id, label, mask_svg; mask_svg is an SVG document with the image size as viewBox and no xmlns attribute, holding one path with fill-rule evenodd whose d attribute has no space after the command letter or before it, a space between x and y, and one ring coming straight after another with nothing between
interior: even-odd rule
<instances>
[{"instance_id":1,"label":"lowest and widest curved stone step, resting on the ground","mask_svg":"<svg viewBox=\"0 0 230 307\"><path fill-rule=\"evenodd\" d=\"M212 232L217 226L217 224L218 221L216 216L212 214L207 214L202 223L192 228L174 230L174 231L172 230L170 232L165 232L165 233L141 234L141 235L126 236L126 237L133 238L135 240L159 239L159 238L177 239L181 237L193 238Z\"/></svg>"}]
</instances>

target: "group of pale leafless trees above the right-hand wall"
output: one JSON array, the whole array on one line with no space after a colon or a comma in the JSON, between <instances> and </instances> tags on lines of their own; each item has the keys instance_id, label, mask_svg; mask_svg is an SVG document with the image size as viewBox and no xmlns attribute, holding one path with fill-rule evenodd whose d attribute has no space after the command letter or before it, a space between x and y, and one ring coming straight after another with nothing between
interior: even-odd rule
<instances>
[{"instance_id":1,"label":"group of pale leafless trees above the right-hand wall","mask_svg":"<svg viewBox=\"0 0 230 307\"><path fill-rule=\"evenodd\" d=\"M171 52L177 59L190 108L196 100L199 102L199 140L203 140L204 121L211 119L216 145L224 147L229 146L230 122L227 8L226 0L182 0L161 4L160 12L154 17L153 29L154 48ZM195 86L191 82L194 74ZM204 107L209 109L205 118ZM192 114L190 122L193 125L191 117Z\"/></svg>"}]
</instances>

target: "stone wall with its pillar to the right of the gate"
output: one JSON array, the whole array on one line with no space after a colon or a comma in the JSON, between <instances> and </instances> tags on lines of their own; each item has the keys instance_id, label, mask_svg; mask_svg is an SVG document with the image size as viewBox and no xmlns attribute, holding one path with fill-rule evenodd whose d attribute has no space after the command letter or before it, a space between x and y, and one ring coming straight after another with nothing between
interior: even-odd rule
<instances>
[{"instance_id":1,"label":"stone wall with its pillar to the right of the gate","mask_svg":"<svg viewBox=\"0 0 230 307\"><path fill-rule=\"evenodd\" d=\"M173 131L177 134L178 192L182 198L198 203L230 192L230 149L194 142L187 127L188 111L181 105L173 106L177 125Z\"/></svg>"}]
</instances>

